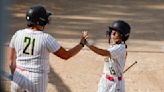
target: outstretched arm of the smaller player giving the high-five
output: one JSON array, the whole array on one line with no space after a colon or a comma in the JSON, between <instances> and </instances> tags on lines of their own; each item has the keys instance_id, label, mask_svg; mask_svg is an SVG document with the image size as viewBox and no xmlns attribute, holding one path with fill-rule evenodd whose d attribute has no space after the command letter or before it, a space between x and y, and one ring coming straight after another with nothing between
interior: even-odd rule
<instances>
[{"instance_id":1,"label":"outstretched arm of the smaller player giving the high-five","mask_svg":"<svg viewBox=\"0 0 164 92\"><path fill-rule=\"evenodd\" d=\"M105 50L105 49L100 49L96 46L93 46L93 45L89 45L88 43L86 44L88 48L90 48L93 52L99 54L99 55L102 55L102 56L109 56L111 57L110 55L110 52L108 50Z\"/></svg>"}]
</instances>

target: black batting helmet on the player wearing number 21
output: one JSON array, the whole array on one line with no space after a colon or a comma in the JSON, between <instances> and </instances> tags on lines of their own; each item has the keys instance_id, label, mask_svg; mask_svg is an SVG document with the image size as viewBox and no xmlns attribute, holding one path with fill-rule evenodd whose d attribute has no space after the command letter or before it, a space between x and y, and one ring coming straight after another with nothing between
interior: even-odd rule
<instances>
[{"instance_id":1,"label":"black batting helmet on the player wearing number 21","mask_svg":"<svg viewBox=\"0 0 164 92\"><path fill-rule=\"evenodd\" d=\"M49 23L48 17L50 15L52 14L47 12L43 6L32 6L26 13L26 20L28 21L27 25L45 26L47 23Z\"/></svg>"}]
</instances>

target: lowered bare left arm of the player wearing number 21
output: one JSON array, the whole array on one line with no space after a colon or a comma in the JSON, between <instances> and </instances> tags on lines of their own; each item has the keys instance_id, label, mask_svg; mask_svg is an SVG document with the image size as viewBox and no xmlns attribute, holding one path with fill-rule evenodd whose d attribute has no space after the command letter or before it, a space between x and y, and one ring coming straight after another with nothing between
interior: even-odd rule
<instances>
[{"instance_id":1,"label":"lowered bare left arm of the player wearing number 21","mask_svg":"<svg viewBox=\"0 0 164 92\"><path fill-rule=\"evenodd\" d=\"M10 70L11 73L14 74L16 69L16 51L15 48L9 48L9 60L10 60Z\"/></svg>"}]
</instances>

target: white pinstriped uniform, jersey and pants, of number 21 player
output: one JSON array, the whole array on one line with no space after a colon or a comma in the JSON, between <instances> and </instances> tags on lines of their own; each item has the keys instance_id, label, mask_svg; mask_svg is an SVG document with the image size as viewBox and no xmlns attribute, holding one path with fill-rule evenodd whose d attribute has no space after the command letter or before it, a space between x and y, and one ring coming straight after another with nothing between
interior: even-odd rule
<instances>
[{"instance_id":1,"label":"white pinstriped uniform, jersey and pants, of number 21 player","mask_svg":"<svg viewBox=\"0 0 164 92\"><path fill-rule=\"evenodd\" d=\"M13 35L10 47L16 50L17 67L23 69L16 69L11 91L46 92L49 53L60 48L57 41L43 31L23 29Z\"/></svg>"}]
</instances>

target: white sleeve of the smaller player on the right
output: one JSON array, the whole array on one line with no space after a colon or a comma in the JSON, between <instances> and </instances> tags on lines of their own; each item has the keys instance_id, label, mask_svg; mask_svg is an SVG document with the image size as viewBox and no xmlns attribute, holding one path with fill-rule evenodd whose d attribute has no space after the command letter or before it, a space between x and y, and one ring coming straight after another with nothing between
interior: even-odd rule
<instances>
[{"instance_id":1,"label":"white sleeve of the smaller player on the right","mask_svg":"<svg viewBox=\"0 0 164 92\"><path fill-rule=\"evenodd\" d=\"M123 45L116 45L112 48L109 48L108 51L111 54L111 58L118 58L122 52L124 51L125 47Z\"/></svg>"}]
</instances>

